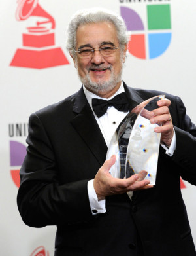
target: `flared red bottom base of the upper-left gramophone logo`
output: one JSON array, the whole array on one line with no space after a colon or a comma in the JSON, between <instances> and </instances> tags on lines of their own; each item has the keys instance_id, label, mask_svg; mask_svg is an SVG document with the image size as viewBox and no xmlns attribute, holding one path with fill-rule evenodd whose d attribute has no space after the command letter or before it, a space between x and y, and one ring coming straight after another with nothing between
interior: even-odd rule
<instances>
[{"instance_id":1,"label":"flared red bottom base of the upper-left gramophone logo","mask_svg":"<svg viewBox=\"0 0 196 256\"><path fill-rule=\"evenodd\" d=\"M49 50L17 49L10 66L44 69L67 64L69 64L69 61L61 48Z\"/></svg>"}]
</instances>

